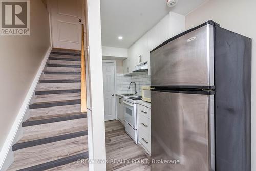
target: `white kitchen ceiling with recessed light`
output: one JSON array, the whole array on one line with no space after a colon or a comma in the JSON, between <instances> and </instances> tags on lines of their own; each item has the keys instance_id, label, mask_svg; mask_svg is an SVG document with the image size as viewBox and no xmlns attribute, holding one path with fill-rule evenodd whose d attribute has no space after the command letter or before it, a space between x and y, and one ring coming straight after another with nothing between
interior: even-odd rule
<instances>
[{"instance_id":1,"label":"white kitchen ceiling with recessed light","mask_svg":"<svg viewBox=\"0 0 256 171\"><path fill-rule=\"evenodd\" d=\"M166 0L101 0L102 46L129 48L169 11L186 15L205 1L179 0L169 8Z\"/></svg>"}]
</instances>

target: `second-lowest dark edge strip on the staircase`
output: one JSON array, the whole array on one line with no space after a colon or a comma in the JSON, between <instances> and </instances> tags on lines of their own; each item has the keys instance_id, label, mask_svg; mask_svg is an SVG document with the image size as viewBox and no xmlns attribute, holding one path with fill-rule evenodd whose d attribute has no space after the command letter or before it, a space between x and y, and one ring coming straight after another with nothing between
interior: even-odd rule
<instances>
[{"instance_id":1,"label":"second-lowest dark edge strip on the staircase","mask_svg":"<svg viewBox=\"0 0 256 171\"><path fill-rule=\"evenodd\" d=\"M19 149L28 148L28 147L32 147L32 146L48 144L48 143L52 143L52 142L57 142L57 141L71 139L71 138L81 137L81 136L85 136L87 134L88 134L87 131L79 131L79 132L70 133L70 134L64 134L64 135L58 135L58 136L49 137L49 138L42 138L42 139L38 139L38 140L32 140L32 141L28 141L28 142L16 143L12 146L12 150L16 151L16 150L19 150Z\"/></svg>"}]
</instances>

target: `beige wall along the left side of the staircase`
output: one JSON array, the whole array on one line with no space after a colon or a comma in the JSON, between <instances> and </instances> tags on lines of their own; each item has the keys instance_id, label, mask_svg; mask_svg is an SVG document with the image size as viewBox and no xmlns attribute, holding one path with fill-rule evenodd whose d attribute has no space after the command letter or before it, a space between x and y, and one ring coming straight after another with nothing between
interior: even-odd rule
<instances>
[{"instance_id":1,"label":"beige wall along the left side of the staircase","mask_svg":"<svg viewBox=\"0 0 256 171\"><path fill-rule=\"evenodd\" d=\"M49 14L41 0L30 1L30 35L0 36L0 164L7 150L3 145L10 145L7 136L15 134L11 128L49 47Z\"/></svg>"}]
</instances>

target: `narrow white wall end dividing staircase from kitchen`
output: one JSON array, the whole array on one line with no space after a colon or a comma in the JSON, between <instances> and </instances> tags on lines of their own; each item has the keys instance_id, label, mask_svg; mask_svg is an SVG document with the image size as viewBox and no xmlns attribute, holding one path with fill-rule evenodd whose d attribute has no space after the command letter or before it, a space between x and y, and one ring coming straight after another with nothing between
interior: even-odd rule
<instances>
[{"instance_id":1,"label":"narrow white wall end dividing staircase from kitchen","mask_svg":"<svg viewBox=\"0 0 256 171\"><path fill-rule=\"evenodd\" d=\"M88 110L89 159L105 160L105 123L101 51L100 0L87 0L90 106ZM90 170L106 170L106 164L94 163Z\"/></svg>"}]
</instances>

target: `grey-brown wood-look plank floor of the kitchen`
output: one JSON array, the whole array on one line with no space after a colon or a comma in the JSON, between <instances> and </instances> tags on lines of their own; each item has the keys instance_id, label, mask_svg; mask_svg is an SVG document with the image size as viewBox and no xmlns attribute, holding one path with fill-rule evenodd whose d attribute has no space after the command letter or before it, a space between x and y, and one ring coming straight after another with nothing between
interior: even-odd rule
<instances>
[{"instance_id":1,"label":"grey-brown wood-look plank floor of the kitchen","mask_svg":"<svg viewBox=\"0 0 256 171\"><path fill-rule=\"evenodd\" d=\"M144 148L135 144L118 121L105 122L107 170L150 171L150 156ZM122 160L122 162L111 162ZM126 160L126 162L124 162ZM129 162L127 162L129 160ZM133 162L132 162L133 161ZM136 162L135 162L136 161ZM138 161L141 161L140 163ZM143 163L144 162L144 163Z\"/></svg>"}]
</instances>

